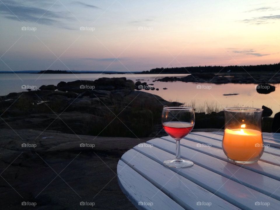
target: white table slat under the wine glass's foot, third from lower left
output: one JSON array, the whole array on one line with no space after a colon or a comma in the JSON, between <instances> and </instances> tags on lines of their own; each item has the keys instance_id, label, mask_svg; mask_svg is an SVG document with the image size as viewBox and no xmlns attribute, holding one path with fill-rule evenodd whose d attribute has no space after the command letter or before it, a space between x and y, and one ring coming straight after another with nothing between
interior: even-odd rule
<instances>
[{"instance_id":1,"label":"white table slat under the wine glass's foot, third from lower left","mask_svg":"<svg viewBox=\"0 0 280 210\"><path fill-rule=\"evenodd\" d=\"M170 145L169 147L171 146L174 149L174 145ZM155 146L135 146L134 149L160 164L163 164L164 160L174 158L174 155L162 151ZM220 176L219 174L216 174L197 164L194 164L192 167L188 168L170 169L241 209L261 209L256 208L255 206L255 202L258 201L269 202L269 207L271 209L279 208L280 201L273 199L268 195L264 195L261 192L245 187L238 182ZM242 192L242 196L240 196L240 192Z\"/></svg>"}]
</instances>

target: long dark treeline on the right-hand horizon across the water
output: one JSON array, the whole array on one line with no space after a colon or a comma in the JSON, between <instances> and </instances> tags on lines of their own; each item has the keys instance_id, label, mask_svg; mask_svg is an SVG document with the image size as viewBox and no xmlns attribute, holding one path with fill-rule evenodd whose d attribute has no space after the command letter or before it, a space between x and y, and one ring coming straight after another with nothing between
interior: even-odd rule
<instances>
[{"instance_id":1,"label":"long dark treeline on the right-hand horizon across the water","mask_svg":"<svg viewBox=\"0 0 280 210\"><path fill-rule=\"evenodd\" d=\"M172 68L156 68L150 71L142 71L142 74L188 74L198 72L213 72L213 73L226 73L226 72L244 72L246 71L279 71L280 62L278 64L264 64L256 66L198 66L198 67L172 67Z\"/></svg>"}]
</instances>

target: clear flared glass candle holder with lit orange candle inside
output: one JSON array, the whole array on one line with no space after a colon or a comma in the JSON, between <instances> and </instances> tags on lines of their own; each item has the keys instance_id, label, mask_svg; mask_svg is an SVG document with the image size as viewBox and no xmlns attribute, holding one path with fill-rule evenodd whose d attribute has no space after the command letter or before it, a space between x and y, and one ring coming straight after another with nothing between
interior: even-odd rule
<instances>
[{"instance_id":1,"label":"clear flared glass candle holder with lit orange candle inside","mask_svg":"<svg viewBox=\"0 0 280 210\"><path fill-rule=\"evenodd\" d=\"M225 108L223 151L236 163L258 162L264 151L261 108Z\"/></svg>"}]
</instances>

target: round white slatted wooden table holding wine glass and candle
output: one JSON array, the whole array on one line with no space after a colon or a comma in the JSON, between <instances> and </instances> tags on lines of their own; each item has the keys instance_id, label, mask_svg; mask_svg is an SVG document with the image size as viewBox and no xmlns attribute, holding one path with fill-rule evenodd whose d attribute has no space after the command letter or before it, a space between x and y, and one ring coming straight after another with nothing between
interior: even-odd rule
<instances>
[{"instance_id":1,"label":"round white slatted wooden table holding wine glass and candle","mask_svg":"<svg viewBox=\"0 0 280 210\"><path fill-rule=\"evenodd\" d=\"M223 132L195 132L181 140L188 168L167 168L174 158L170 136L139 144L118 162L118 182L137 209L280 209L280 134L263 133L254 164L233 164L222 150Z\"/></svg>"}]
</instances>

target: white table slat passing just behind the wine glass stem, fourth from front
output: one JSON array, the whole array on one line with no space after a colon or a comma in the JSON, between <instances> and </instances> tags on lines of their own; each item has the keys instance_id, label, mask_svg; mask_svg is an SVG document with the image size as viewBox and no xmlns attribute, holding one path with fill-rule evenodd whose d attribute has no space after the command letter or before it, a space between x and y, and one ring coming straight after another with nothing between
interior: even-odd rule
<instances>
[{"instance_id":1,"label":"white table slat passing just behind the wine glass stem, fourth from front","mask_svg":"<svg viewBox=\"0 0 280 210\"><path fill-rule=\"evenodd\" d=\"M147 143L175 155L175 143L163 139L152 139ZM136 147L134 147L136 149ZM140 150L139 150L140 151ZM152 155L152 154L151 154ZM241 183L248 188L262 192L280 201L280 181L248 169L230 164L190 148L181 147L182 158L192 160L195 165L215 172L225 178ZM173 156L174 157L174 156Z\"/></svg>"}]
</instances>

